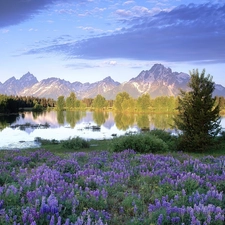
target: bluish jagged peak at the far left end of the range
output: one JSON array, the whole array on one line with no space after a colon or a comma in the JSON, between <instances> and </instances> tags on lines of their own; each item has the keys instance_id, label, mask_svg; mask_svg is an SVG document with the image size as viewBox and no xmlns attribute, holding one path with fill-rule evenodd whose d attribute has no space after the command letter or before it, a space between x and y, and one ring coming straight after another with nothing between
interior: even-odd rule
<instances>
[{"instance_id":1,"label":"bluish jagged peak at the far left end of the range","mask_svg":"<svg viewBox=\"0 0 225 225\"><path fill-rule=\"evenodd\" d=\"M34 84L38 83L37 78L30 72L23 75L19 80L11 77L5 83L0 85L0 93L6 95L20 95L24 88L31 88Z\"/></svg>"}]
</instances>

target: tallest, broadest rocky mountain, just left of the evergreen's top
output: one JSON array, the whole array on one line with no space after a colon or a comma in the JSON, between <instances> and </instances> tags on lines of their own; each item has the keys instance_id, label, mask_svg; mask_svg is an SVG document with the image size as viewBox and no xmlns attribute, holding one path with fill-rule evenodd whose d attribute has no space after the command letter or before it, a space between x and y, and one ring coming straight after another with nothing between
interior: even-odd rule
<instances>
[{"instance_id":1,"label":"tallest, broadest rocky mountain, just left of the evergreen's top","mask_svg":"<svg viewBox=\"0 0 225 225\"><path fill-rule=\"evenodd\" d=\"M106 98L121 91L128 92L132 97L149 93L152 98L158 96L176 96L179 89L187 90L190 76L185 73L172 72L161 64L155 64L150 70L142 71L137 77L130 79L107 93Z\"/></svg>"}]
</instances>

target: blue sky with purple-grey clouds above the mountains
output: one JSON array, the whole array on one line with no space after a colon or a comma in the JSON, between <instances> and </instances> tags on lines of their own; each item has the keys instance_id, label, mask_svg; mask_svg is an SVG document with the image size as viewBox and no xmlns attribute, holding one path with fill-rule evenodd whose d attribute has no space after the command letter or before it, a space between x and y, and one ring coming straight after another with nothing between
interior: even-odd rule
<instances>
[{"instance_id":1,"label":"blue sky with purple-grey clouds above the mountains","mask_svg":"<svg viewBox=\"0 0 225 225\"><path fill-rule=\"evenodd\" d=\"M0 0L0 82L125 82L161 63L225 86L225 0Z\"/></svg>"}]
</instances>

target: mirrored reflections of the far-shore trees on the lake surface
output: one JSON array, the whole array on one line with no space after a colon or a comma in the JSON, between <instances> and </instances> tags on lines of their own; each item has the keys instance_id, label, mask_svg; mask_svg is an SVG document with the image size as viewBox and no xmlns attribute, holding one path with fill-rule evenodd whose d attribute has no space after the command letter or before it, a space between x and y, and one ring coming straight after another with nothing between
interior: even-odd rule
<instances>
[{"instance_id":1,"label":"mirrored reflections of the far-shore trees on the lake surface","mask_svg":"<svg viewBox=\"0 0 225 225\"><path fill-rule=\"evenodd\" d=\"M31 112L30 112L31 113ZM29 113L28 113L29 114ZM170 129L173 125L173 114L135 114L135 113L121 113L121 112L106 112L106 111L51 111L51 112L32 112L34 121L30 121L30 117L26 118L26 113L19 115L0 116L0 130L3 130L12 123L16 124L18 118L20 123L35 124L42 117L42 123L46 122L56 126L64 126L69 124L71 128L74 128L76 124L84 118L84 121L88 123L94 122L97 126L102 126L107 122L115 124L118 130L126 131L132 127L138 127L140 129L148 130L152 128L157 129ZM87 117L87 118L86 118ZM54 119L55 118L55 119ZM21 122L21 119L24 120ZM52 121L57 121L58 124L53 124ZM18 122L19 123L19 122ZM40 123L40 122L39 122ZM107 127L107 126L106 126ZM112 126L111 126L112 127Z\"/></svg>"}]
</instances>

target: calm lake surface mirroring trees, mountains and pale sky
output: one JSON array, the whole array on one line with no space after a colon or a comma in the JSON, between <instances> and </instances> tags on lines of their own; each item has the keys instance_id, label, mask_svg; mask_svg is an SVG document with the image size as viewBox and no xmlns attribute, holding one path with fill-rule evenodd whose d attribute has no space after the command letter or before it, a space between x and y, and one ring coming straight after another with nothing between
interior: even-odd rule
<instances>
[{"instance_id":1,"label":"calm lake surface mirroring trees, mountains and pale sky","mask_svg":"<svg viewBox=\"0 0 225 225\"><path fill-rule=\"evenodd\" d=\"M113 112L25 112L0 117L0 149L36 147L37 137L65 140L69 137L110 139L146 129L170 129L173 115L122 114ZM222 119L222 123L224 123ZM224 127L224 126L223 126Z\"/></svg>"}]
</instances>

